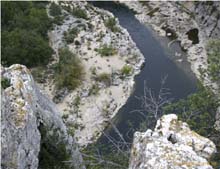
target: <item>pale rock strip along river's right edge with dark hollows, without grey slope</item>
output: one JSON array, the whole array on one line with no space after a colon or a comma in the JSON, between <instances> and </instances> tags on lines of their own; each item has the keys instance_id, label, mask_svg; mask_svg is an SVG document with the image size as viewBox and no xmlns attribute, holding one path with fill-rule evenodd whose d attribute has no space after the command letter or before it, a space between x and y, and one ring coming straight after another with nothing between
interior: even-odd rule
<instances>
[{"instance_id":1,"label":"pale rock strip along river's right edge with dark hollows, without grey slope","mask_svg":"<svg viewBox=\"0 0 220 169\"><path fill-rule=\"evenodd\" d=\"M206 70L208 65L206 44L209 38L208 33L200 28L192 16L192 12L186 12L183 6L175 2L119 2L133 10L141 23L151 26L160 36L169 37L171 42L168 46L179 42L187 53L187 59L196 77L217 91L218 86L210 77L201 79L201 70Z\"/></svg>"}]
</instances>

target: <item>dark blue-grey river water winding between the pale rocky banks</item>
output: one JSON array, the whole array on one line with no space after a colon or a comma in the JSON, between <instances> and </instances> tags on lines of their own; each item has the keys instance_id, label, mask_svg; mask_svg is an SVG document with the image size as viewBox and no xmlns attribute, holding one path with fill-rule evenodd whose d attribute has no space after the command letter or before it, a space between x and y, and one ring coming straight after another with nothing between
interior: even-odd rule
<instances>
[{"instance_id":1,"label":"dark blue-grey river water winding between the pale rocky banks","mask_svg":"<svg viewBox=\"0 0 220 169\"><path fill-rule=\"evenodd\" d=\"M134 13L126 7L113 2L92 3L97 7L112 12L118 18L120 25L127 29L145 57L145 66L141 73L135 77L134 92L112 120L126 138L126 133L130 129L128 121L134 127L137 127L141 121L140 116L137 113L131 113L131 111L139 109L141 106L140 101L135 96L143 96L144 81L146 81L149 88L157 92L160 89L161 78L168 75L165 87L170 89L170 97L178 100L196 91L196 78L190 71L185 53L181 51L179 44L176 43L171 45L171 48L168 48L168 38L158 37L150 27L141 24L135 18ZM175 52L181 53L181 62L178 61L180 58L174 57ZM117 139L117 134L110 126L107 127L105 132ZM133 133L130 133L130 135L133 135ZM98 143L107 144L108 139L103 135L98 140Z\"/></svg>"}]
</instances>

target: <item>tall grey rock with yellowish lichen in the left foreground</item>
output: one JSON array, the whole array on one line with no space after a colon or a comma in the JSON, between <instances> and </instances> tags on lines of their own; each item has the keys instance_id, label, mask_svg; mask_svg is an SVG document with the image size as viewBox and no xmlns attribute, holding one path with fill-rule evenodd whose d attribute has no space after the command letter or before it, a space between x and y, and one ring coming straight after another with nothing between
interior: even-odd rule
<instances>
[{"instance_id":1,"label":"tall grey rock with yellowish lichen in the left foreground","mask_svg":"<svg viewBox=\"0 0 220 169\"><path fill-rule=\"evenodd\" d=\"M22 65L1 68L2 78L10 84L1 97L1 166L4 169L37 169L41 148L39 126L57 133L57 141L66 145L72 167L81 167L82 157L72 137L68 136L55 105L39 91L29 70ZM54 145L57 144L56 140Z\"/></svg>"}]
</instances>

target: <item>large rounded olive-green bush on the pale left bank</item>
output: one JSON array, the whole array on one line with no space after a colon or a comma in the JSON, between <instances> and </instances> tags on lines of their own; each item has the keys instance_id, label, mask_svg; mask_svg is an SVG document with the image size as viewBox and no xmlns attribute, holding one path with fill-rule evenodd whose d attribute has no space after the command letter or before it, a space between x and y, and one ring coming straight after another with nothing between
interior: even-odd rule
<instances>
[{"instance_id":1,"label":"large rounded olive-green bush on the pale left bank","mask_svg":"<svg viewBox=\"0 0 220 169\"><path fill-rule=\"evenodd\" d=\"M59 63L55 66L55 81L58 89L76 89L82 82L84 69L81 61L67 48L59 50Z\"/></svg>"}]
</instances>

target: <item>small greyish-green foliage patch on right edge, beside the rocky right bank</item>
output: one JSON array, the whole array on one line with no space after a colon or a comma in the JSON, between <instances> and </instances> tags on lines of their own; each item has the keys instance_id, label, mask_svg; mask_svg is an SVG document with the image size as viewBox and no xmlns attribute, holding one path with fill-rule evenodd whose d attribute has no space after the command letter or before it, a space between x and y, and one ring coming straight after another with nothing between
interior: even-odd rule
<instances>
[{"instance_id":1,"label":"small greyish-green foliage patch on right edge, beside the rocky right bank","mask_svg":"<svg viewBox=\"0 0 220 169\"><path fill-rule=\"evenodd\" d=\"M211 40L207 45L208 74L213 81L220 82L220 40Z\"/></svg>"}]
</instances>

